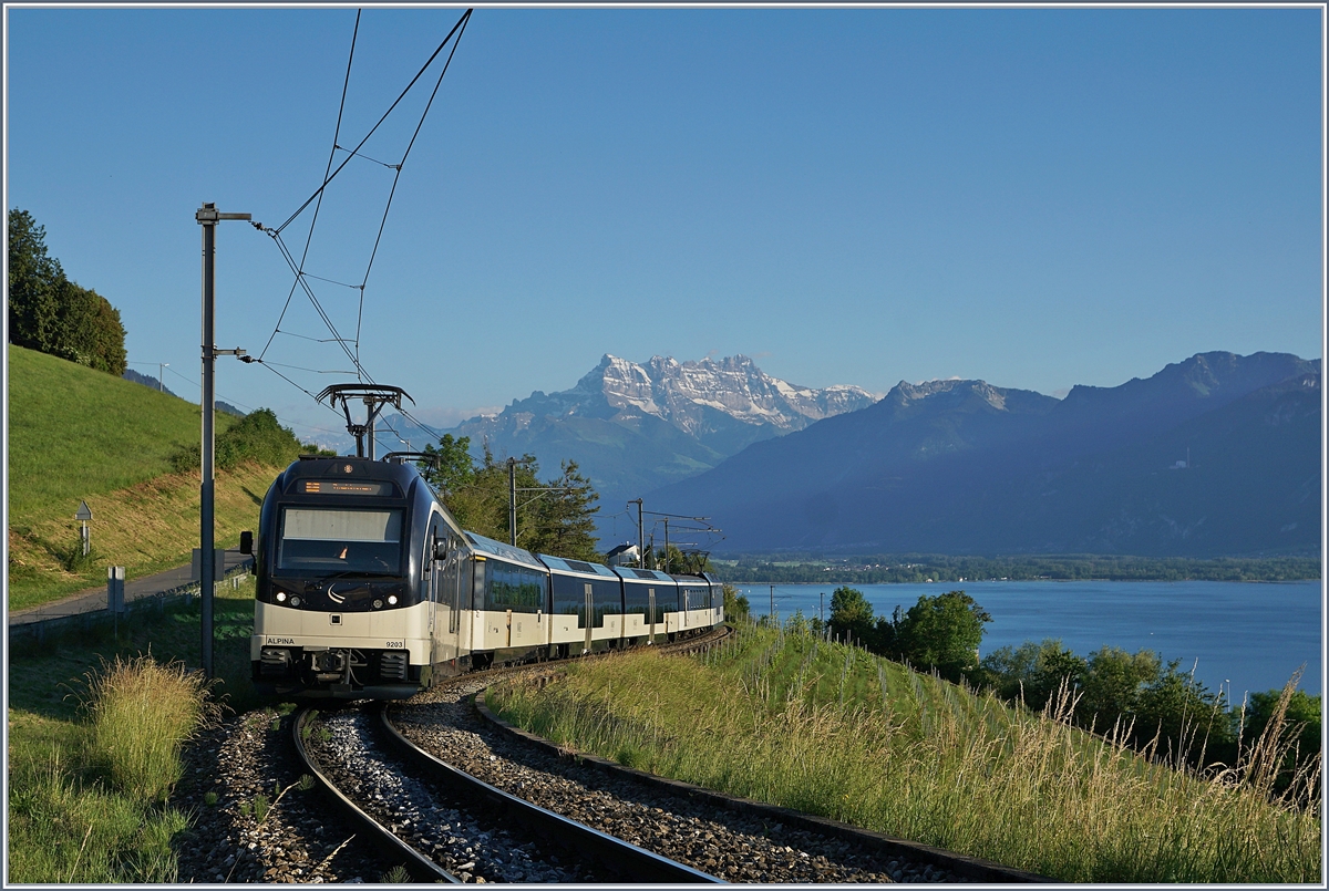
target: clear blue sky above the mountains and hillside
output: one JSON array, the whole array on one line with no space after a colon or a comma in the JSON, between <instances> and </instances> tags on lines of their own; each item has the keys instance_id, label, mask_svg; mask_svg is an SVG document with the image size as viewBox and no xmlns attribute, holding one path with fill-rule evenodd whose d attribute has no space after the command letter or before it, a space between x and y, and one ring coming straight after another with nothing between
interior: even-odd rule
<instances>
[{"instance_id":1,"label":"clear blue sky above the mountains and hillside","mask_svg":"<svg viewBox=\"0 0 1329 891\"><path fill-rule=\"evenodd\" d=\"M460 12L364 11L343 145ZM194 210L275 226L314 193L355 15L7 9L7 207L182 396ZM436 72L365 154L400 159ZM364 276L391 178L358 158L334 181L307 272ZM477 9L401 171L360 359L445 426L606 352L882 393L1318 357L1321 194L1318 9ZM258 353L292 276L243 223L218 243L218 345ZM358 292L311 285L352 333ZM282 329L266 360L351 368L303 339L331 337L303 292ZM222 398L339 430L267 369L218 374Z\"/></svg>"}]
</instances>

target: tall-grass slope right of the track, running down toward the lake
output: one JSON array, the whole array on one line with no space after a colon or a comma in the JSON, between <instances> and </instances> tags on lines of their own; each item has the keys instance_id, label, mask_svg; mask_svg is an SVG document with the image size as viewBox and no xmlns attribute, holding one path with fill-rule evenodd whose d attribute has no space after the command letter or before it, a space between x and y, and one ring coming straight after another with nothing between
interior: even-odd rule
<instances>
[{"instance_id":1,"label":"tall-grass slope right of the track, running down toward the lake","mask_svg":"<svg viewBox=\"0 0 1329 891\"><path fill-rule=\"evenodd\" d=\"M1268 749L1197 777L809 635L748 627L493 702L561 745L1061 880L1321 879L1318 807L1271 801Z\"/></svg>"}]
</instances>

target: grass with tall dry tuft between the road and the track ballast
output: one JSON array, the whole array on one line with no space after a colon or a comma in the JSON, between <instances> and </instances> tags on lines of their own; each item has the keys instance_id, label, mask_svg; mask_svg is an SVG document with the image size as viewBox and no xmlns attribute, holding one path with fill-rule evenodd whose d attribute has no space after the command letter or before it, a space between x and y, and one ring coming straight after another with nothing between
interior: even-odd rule
<instances>
[{"instance_id":1,"label":"grass with tall dry tuft between the road and the track ballast","mask_svg":"<svg viewBox=\"0 0 1329 891\"><path fill-rule=\"evenodd\" d=\"M130 613L16 647L9 655L9 876L27 883L171 882L189 814L171 803L178 749L210 702L258 702L250 685L254 583L222 586L214 608L219 683L201 696L198 600ZM152 652L155 665L113 672ZM89 675L90 673L90 675ZM89 685L89 679L104 679ZM93 696L100 694L100 696ZM85 708L80 701L96 704Z\"/></svg>"}]
</instances>

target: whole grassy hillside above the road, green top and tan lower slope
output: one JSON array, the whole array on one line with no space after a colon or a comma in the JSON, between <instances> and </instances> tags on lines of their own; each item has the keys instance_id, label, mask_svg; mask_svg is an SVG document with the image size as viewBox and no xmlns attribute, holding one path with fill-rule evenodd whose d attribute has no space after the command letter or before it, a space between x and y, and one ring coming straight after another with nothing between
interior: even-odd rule
<instances>
[{"instance_id":1,"label":"whole grassy hillside above the road, green top and tan lower slope","mask_svg":"<svg viewBox=\"0 0 1329 891\"><path fill-rule=\"evenodd\" d=\"M106 567L141 578L189 563L198 546L198 473L171 473L179 446L198 447L198 406L53 356L9 348L11 609L106 583ZM222 433L237 418L218 413ZM256 528L275 467L217 475L217 543ZM92 509L84 559L80 499Z\"/></svg>"}]
</instances>

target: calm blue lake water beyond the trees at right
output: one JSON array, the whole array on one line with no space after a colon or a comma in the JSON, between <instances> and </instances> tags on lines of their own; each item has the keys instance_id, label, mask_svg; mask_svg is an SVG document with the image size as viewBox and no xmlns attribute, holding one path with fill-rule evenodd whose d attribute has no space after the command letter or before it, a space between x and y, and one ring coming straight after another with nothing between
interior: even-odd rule
<instances>
[{"instance_id":1,"label":"calm blue lake water beyond the trees at right","mask_svg":"<svg viewBox=\"0 0 1329 891\"><path fill-rule=\"evenodd\" d=\"M771 588L736 586L752 613L769 612ZM920 595L964 590L991 613L982 652L1018 647L1026 640L1061 637L1080 656L1099 647L1130 652L1152 649L1164 660L1180 659L1211 690L1243 692L1281 688L1305 663L1301 687L1321 692L1320 582L942 582L940 584L859 584L877 616L908 609ZM825 595L831 611L833 584L777 584L775 608L781 619L795 609L817 615ZM1199 660L1199 661L1196 661Z\"/></svg>"}]
</instances>

